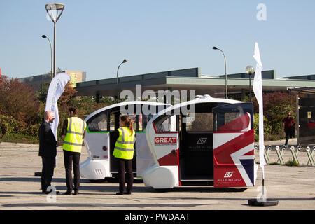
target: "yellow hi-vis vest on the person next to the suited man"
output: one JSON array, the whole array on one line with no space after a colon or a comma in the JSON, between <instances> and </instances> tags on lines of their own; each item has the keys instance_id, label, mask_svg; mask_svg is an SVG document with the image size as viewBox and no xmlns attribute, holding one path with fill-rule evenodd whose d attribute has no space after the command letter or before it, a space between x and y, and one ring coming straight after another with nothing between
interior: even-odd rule
<instances>
[{"instance_id":1,"label":"yellow hi-vis vest on the person next to the suited man","mask_svg":"<svg viewBox=\"0 0 315 224\"><path fill-rule=\"evenodd\" d=\"M78 117L71 117L67 119L68 127L66 128L66 137L64 137L64 144L62 148L66 151L80 153L86 123Z\"/></svg>"}]
</instances>

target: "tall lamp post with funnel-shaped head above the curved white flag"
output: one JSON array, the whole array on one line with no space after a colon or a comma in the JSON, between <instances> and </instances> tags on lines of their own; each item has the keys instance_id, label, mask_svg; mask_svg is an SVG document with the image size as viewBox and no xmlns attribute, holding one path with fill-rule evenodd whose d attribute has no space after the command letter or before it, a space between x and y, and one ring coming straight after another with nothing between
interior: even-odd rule
<instances>
[{"instance_id":1,"label":"tall lamp post with funnel-shaped head above the curved white flag","mask_svg":"<svg viewBox=\"0 0 315 224\"><path fill-rule=\"evenodd\" d=\"M54 23L54 75L56 76L57 68L56 68L56 23L59 20L60 16L62 15L62 12L64 11L64 4L62 3L49 3L45 4L45 9Z\"/></svg>"}]
</instances>

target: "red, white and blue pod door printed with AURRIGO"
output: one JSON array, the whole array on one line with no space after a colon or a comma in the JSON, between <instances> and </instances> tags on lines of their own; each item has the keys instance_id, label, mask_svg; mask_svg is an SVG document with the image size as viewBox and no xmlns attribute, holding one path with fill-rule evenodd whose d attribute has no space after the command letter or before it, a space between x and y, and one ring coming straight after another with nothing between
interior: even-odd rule
<instances>
[{"instance_id":1,"label":"red, white and blue pod door printed with AURRIGO","mask_svg":"<svg viewBox=\"0 0 315 224\"><path fill-rule=\"evenodd\" d=\"M213 112L214 187L254 186L253 104L228 104Z\"/></svg>"}]
</instances>

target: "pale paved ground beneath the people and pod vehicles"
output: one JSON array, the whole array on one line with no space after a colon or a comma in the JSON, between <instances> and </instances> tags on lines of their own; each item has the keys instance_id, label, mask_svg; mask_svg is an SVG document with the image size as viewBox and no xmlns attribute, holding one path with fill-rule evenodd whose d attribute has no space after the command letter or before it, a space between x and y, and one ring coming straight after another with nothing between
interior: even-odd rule
<instances>
[{"instance_id":1,"label":"pale paved ground beneath the people and pod vehicles","mask_svg":"<svg viewBox=\"0 0 315 224\"><path fill-rule=\"evenodd\" d=\"M57 151L58 167L55 169L52 185L63 193L66 190L66 182L62 148ZM289 159L290 151L285 153L285 158L286 155ZM270 156L272 160L276 160L274 152ZM81 162L85 158L87 153L83 149ZM182 186L169 192L158 193L144 186L144 183L134 183L132 195L116 195L118 183L90 183L81 179L80 195L41 195L41 178L34 176L34 172L41 171L38 145L2 142L0 210L314 210L315 167L305 165L305 152L300 153L300 158L300 167L266 165L267 197L275 198L279 204L275 207L251 207L248 206L247 200L257 197L261 192L261 169L258 169L256 186L247 190ZM256 159L259 161L259 158Z\"/></svg>"}]
</instances>

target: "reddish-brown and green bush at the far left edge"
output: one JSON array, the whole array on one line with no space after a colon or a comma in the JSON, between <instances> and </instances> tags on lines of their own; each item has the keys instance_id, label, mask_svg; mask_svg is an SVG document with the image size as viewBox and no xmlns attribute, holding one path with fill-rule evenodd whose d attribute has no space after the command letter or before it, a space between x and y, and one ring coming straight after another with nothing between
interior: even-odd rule
<instances>
[{"instance_id":1,"label":"reddish-brown and green bush at the far left edge","mask_svg":"<svg viewBox=\"0 0 315 224\"><path fill-rule=\"evenodd\" d=\"M38 132L41 104L33 87L17 79L0 78L0 137L25 141Z\"/></svg>"}]
</instances>

